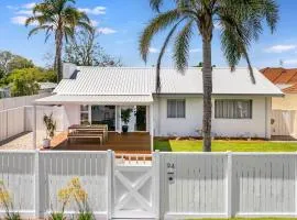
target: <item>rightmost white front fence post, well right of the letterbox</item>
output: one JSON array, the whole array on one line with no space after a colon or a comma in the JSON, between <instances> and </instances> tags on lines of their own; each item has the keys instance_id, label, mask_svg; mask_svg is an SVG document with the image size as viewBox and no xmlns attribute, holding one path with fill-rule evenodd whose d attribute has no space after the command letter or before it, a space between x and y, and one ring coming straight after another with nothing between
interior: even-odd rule
<instances>
[{"instance_id":1,"label":"rightmost white front fence post, well right of the letterbox","mask_svg":"<svg viewBox=\"0 0 297 220\"><path fill-rule=\"evenodd\" d=\"M227 201L226 201L226 205L227 205L227 218L231 218L233 216L232 211L233 211L233 204L232 204L232 182L233 182L233 178L232 178L232 153L231 152L228 152L228 156L227 156L227 184L226 184L226 188L227 188L227 195L226 195L226 198L227 198Z\"/></svg>"}]
</instances>

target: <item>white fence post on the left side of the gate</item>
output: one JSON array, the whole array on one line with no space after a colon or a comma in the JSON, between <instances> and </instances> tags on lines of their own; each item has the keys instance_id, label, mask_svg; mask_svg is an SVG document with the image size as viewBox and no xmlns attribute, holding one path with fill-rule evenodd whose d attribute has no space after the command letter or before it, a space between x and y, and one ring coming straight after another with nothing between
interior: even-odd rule
<instances>
[{"instance_id":1,"label":"white fence post on the left side of the gate","mask_svg":"<svg viewBox=\"0 0 297 220\"><path fill-rule=\"evenodd\" d=\"M111 150L107 151L107 176L108 176L108 219L112 218L112 174L113 174L113 152Z\"/></svg>"}]
</instances>

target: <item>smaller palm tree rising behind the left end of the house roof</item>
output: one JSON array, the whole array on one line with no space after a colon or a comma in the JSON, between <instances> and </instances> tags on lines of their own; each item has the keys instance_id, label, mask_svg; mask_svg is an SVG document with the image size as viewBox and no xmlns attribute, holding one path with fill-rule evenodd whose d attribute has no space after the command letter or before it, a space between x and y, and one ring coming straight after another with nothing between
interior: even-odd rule
<instances>
[{"instance_id":1,"label":"smaller palm tree rising behind the left end of the house roof","mask_svg":"<svg viewBox=\"0 0 297 220\"><path fill-rule=\"evenodd\" d=\"M29 37L38 31L45 31L45 42L52 33L55 35L55 70L57 81L63 77L62 48L64 40L73 37L76 28L91 30L90 20L86 13L70 6L75 0L44 0L33 8L33 15L28 18L25 25L37 24L29 32Z\"/></svg>"}]
</instances>

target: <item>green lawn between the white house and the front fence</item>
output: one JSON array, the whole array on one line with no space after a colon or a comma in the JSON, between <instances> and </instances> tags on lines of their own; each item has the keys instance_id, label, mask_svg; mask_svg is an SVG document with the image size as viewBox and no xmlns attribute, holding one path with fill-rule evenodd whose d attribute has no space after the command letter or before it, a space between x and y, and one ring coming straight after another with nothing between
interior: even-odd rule
<instances>
[{"instance_id":1,"label":"green lawn between the white house and the front fence","mask_svg":"<svg viewBox=\"0 0 297 220\"><path fill-rule=\"evenodd\" d=\"M155 141L155 150L164 152L200 152L202 141ZM268 141L213 141L213 152L295 152L297 143Z\"/></svg>"}]
</instances>

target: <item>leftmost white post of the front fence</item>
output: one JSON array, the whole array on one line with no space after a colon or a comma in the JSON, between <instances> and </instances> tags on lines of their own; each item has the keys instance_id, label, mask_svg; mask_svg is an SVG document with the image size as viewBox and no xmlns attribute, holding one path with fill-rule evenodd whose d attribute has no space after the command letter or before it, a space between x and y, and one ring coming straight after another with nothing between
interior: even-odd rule
<instances>
[{"instance_id":1,"label":"leftmost white post of the front fence","mask_svg":"<svg viewBox=\"0 0 297 220\"><path fill-rule=\"evenodd\" d=\"M40 151L35 151L34 160L34 199L35 199L35 218L41 217L41 206L40 206Z\"/></svg>"}]
</instances>

